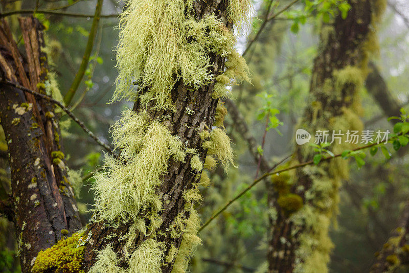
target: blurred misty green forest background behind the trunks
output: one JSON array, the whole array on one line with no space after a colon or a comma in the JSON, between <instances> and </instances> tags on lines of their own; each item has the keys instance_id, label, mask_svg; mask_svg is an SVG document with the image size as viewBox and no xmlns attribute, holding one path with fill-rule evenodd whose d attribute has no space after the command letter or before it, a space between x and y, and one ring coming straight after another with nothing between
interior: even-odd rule
<instances>
[{"instance_id":1,"label":"blurred misty green forest background behind the trunks","mask_svg":"<svg viewBox=\"0 0 409 273\"><path fill-rule=\"evenodd\" d=\"M32 10L36 1L1 1L1 12L9 10ZM282 0L275 7L281 10L292 1ZM93 14L95 1L41 1L39 9L51 9L71 5L64 12ZM254 1L254 13L262 17L265 5ZM102 14L119 14L124 3L105 0ZM316 15L316 14L315 14ZM260 109L266 101L272 103L280 113L282 125L266 133L263 156L273 165L293 151L294 132L303 109L306 106L313 59L317 54L319 26L322 16L305 16L302 1L270 20L264 31L257 37L245 59L252 72L253 84L232 88L231 97L242 113L254 135L257 146L261 145L265 120L258 119ZM8 16L11 28L18 28L18 15ZM92 24L90 17L67 17L58 14L37 14L48 27L54 59L53 70L64 95L70 88L81 63L88 31ZM237 47L242 53L248 41L255 37L255 30L262 19L254 18L251 27L241 35ZM92 57L85 77L74 98L79 102L75 115L96 133L105 143L110 143L110 126L119 119L120 112L132 107L133 102L109 103L115 89L117 69L114 68L115 47L118 41L118 18L102 17L95 38ZM14 29L13 29L14 28ZM365 129L393 130L388 121L390 112L406 108L409 86L409 3L404 0L390 0L377 35L380 52L371 62L378 67L360 90L363 111L361 119ZM371 82L372 81L372 82ZM386 83L386 88L376 86ZM371 86L372 88L369 88ZM375 87L374 87L375 86ZM81 97L83 95L83 98ZM271 96L269 96L271 95ZM82 100L81 100L82 99ZM385 101L392 101L385 104ZM383 105L383 106L382 106ZM229 107L228 107L229 109ZM231 111L230 111L231 113ZM248 150L243 135L236 130L237 115L228 115L224 122L232 139L237 168L228 173L216 168L211 172L212 187L203 192L204 200L197 207L201 219L211 214L253 181L257 163ZM66 116L62 118L66 127L62 137L67 164L71 169L81 170L83 185L78 187L78 207L82 222L86 223L93 208L93 193L90 191L94 180L90 172L102 165L104 152L75 123ZM64 123L64 122L63 122ZM335 245L331 254L331 272L368 271L373 263L374 253L381 249L390 231L397 225L403 205L409 196L409 153L395 152L390 159L381 153L366 158L366 164L357 167L350 161L350 179L343 181L340 189L339 214L331 229ZM407 151L407 149L406 149ZM0 180L2 194L10 187L10 169L7 162L7 143L0 128ZM268 207L264 184L260 183L245 193L222 215L200 232L202 245L197 248L191 261L192 272L255 272L263 271L266 264ZM0 218L0 271L19 272L14 227L5 217Z\"/></svg>"}]
</instances>

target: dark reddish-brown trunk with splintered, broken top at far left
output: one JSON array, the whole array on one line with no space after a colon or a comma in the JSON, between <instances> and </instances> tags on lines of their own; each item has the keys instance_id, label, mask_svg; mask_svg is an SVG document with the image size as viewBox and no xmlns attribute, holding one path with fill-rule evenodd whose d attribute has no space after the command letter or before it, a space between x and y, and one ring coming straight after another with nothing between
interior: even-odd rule
<instances>
[{"instance_id":1,"label":"dark reddish-brown trunk with splintered, broken top at far left","mask_svg":"<svg viewBox=\"0 0 409 273\"><path fill-rule=\"evenodd\" d=\"M2 80L44 92L41 83L47 80L48 63L41 51L42 25L28 17L20 18L20 26L27 58L18 52L6 21L0 24ZM12 210L23 272L31 272L37 253L54 245L63 236L62 230L72 234L81 227L64 160L53 162L52 152L63 152L57 116L50 103L0 81L0 118L8 143Z\"/></svg>"}]
</instances>

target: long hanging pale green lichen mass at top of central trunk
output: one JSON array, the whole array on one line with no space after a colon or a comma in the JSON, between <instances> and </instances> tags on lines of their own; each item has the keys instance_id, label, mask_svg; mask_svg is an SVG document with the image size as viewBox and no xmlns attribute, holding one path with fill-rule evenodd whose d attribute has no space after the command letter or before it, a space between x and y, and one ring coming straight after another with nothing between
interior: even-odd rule
<instances>
[{"instance_id":1,"label":"long hanging pale green lichen mass at top of central trunk","mask_svg":"<svg viewBox=\"0 0 409 273\"><path fill-rule=\"evenodd\" d=\"M178 79L194 88L212 79L207 53L226 55L234 37L214 15L199 21L187 17L191 9L191 0L127 2L120 19L113 100L137 96L137 83L138 89L149 88L139 95L144 102L155 100L155 108L173 109L170 91Z\"/></svg>"}]
</instances>

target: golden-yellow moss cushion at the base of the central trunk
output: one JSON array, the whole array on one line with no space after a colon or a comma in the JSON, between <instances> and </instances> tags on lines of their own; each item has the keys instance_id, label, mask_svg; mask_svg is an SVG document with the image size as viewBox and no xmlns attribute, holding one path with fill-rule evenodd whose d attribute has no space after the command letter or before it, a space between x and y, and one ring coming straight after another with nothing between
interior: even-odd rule
<instances>
[{"instance_id":1,"label":"golden-yellow moss cushion at the base of the central trunk","mask_svg":"<svg viewBox=\"0 0 409 273\"><path fill-rule=\"evenodd\" d=\"M84 247L77 247L80 235L73 234L70 238L62 239L54 246L40 251L31 270L41 272L78 272L85 273L82 267Z\"/></svg>"}]
</instances>

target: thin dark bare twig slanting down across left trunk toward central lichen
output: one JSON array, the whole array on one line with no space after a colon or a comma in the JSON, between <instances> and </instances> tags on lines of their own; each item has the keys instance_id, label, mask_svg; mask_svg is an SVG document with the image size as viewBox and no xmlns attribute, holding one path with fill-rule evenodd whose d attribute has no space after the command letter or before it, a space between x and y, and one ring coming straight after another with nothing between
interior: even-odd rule
<instances>
[{"instance_id":1,"label":"thin dark bare twig slanting down across left trunk toward central lichen","mask_svg":"<svg viewBox=\"0 0 409 273\"><path fill-rule=\"evenodd\" d=\"M13 86L13 87L15 87L15 88L18 88L18 89L24 91L24 92L33 94L34 96L37 96L37 97L39 97L39 98L41 98L41 99L43 99L43 100L46 100L46 101L49 101L49 102L52 102L52 103L58 105L64 112L67 113L67 115L68 115L71 119L73 119L73 120L82 128L82 130L84 130L84 131L85 131L91 138L93 138L100 146L104 147L112 156L115 156L115 157L116 157L116 154L113 152L112 148L109 147L109 145L107 145L107 144L103 143L102 141L100 141L100 140L96 137L96 135L95 135L92 131L90 131L90 130L85 126L85 124L84 124L82 121L80 121L76 116L74 116L73 112L71 112L67 107L65 107L64 105L62 105L61 102L59 102L59 101L57 101L57 100L54 100L53 98L51 98L51 97L49 97L49 96L46 96L46 95L43 95L43 94L34 92L33 90L30 90L30 89L28 89L28 88L26 88L26 87L24 87L24 86L15 84L15 83L10 82L10 81L7 81L7 80L6 80L6 81L1 81L1 83L5 83L5 84L7 84L7 85Z\"/></svg>"}]
</instances>

